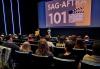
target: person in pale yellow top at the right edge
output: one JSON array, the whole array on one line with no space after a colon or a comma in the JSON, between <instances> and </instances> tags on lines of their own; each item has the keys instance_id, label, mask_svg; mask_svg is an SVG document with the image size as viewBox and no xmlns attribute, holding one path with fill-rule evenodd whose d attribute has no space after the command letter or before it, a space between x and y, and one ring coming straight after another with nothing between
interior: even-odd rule
<instances>
[{"instance_id":1,"label":"person in pale yellow top at the right edge","mask_svg":"<svg viewBox=\"0 0 100 69\"><path fill-rule=\"evenodd\" d=\"M96 42L93 45L93 55L86 54L83 58L83 61L90 64L100 64L100 43Z\"/></svg>"}]
</instances>

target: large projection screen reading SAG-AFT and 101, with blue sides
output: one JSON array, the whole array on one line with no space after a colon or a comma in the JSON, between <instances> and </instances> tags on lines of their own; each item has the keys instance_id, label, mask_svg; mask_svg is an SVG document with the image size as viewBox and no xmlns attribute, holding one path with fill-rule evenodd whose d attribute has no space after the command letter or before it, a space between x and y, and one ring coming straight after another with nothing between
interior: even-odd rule
<instances>
[{"instance_id":1,"label":"large projection screen reading SAG-AFT and 101, with blue sides","mask_svg":"<svg viewBox=\"0 0 100 69\"><path fill-rule=\"evenodd\" d=\"M100 0L52 0L40 2L39 27L100 27Z\"/></svg>"}]
</instances>

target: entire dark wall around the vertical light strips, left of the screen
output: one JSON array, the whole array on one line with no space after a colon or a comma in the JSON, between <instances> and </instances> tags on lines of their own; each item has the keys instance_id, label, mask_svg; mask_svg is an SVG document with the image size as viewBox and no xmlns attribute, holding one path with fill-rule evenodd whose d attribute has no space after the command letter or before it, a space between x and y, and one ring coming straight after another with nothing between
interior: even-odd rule
<instances>
[{"instance_id":1,"label":"entire dark wall around the vertical light strips, left of the screen","mask_svg":"<svg viewBox=\"0 0 100 69\"><path fill-rule=\"evenodd\" d=\"M6 15L6 24L7 24L7 33L12 34L12 20L11 20L11 4L10 0L3 0L5 6L5 15ZM11 0L13 6L13 19L15 33L19 33L19 24L18 24L18 4L17 0ZM37 18L37 0L19 0L19 10L20 10L20 19L22 33L28 34L32 33L38 27L38 18ZM4 32L4 21L3 21L3 6L2 0L0 0L0 33Z\"/></svg>"}]
</instances>

